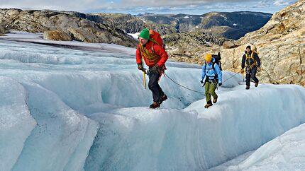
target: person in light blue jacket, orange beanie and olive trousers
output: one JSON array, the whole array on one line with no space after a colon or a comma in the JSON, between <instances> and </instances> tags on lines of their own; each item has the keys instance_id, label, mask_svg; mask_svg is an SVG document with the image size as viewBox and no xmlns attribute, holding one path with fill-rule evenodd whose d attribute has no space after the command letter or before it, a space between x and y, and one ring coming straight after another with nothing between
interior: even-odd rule
<instances>
[{"instance_id":1,"label":"person in light blue jacket, orange beanie and olive trousers","mask_svg":"<svg viewBox=\"0 0 305 171\"><path fill-rule=\"evenodd\" d=\"M218 95L215 93L215 90L218 86L222 85L222 73L218 64L216 64L215 59L212 58L211 54L206 54L206 62L202 66L202 76L201 83L204 83L204 90L206 95L206 105L205 108L212 106L211 96L213 96L213 102L217 102ZM206 80L204 81L204 78Z\"/></svg>"}]
</instances>

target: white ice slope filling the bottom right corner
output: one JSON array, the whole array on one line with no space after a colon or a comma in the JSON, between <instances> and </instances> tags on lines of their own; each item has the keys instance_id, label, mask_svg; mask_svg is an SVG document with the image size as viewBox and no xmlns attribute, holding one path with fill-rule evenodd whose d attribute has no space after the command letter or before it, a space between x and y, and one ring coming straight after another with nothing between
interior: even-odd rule
<instances>
[{"instance_id":1,"label":"white ice slope filling the bottom right corner","mask_svg":"<svg viewBox=\"0 0 305 171\"><path fill-rule=\"evenodd\" d=\"M304 130L305 124L296 126L256 151L240 155L210 170L304 170Z\"/></svg>"}]
</instances>

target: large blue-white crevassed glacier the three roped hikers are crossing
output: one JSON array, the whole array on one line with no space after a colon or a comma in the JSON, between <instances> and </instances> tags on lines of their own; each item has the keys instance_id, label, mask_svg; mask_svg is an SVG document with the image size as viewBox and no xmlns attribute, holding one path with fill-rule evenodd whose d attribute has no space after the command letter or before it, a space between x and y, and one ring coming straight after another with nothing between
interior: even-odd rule
<instances>
[{"instance_id":1,"label":"large blue-white crevassed glacier the three roped hikers are crossing","mask_svg":"<svg viewBox=\"0 0 305 171\"><path fill-rule=\"evenodd\" d=\"M241 76L226 71L208 110L203 94L166 77L169 99L150 110L134 49L99 46L109 49L0 40L1 170L206 170L304 123L303 87L244 90ZM174 81L204 91L200 66L167 68Z\"/></svg>"}]
</instances>

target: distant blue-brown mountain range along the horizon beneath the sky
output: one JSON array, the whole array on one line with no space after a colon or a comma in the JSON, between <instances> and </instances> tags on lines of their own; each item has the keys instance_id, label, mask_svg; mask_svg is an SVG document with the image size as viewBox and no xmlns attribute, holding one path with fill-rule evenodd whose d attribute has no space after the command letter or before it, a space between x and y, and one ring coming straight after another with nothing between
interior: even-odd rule
<instances>
[{"instance_id":1,"label":"distant blue-brown mountain range along the horizon beneath the sky","mask_svg":"<svg viewBox=\"0 0 305 171\"><path fill-rule=\"evenodd\" d=\"M262 28L272 16L271 13L248 11L211 12L203 15L153 13L137 16L120 13L74 13L74 15L119 28L126 33L138 33L145 27L157 30L162 35L202 30L210 35L234 40Z\"/></svg>"}]
</instances>

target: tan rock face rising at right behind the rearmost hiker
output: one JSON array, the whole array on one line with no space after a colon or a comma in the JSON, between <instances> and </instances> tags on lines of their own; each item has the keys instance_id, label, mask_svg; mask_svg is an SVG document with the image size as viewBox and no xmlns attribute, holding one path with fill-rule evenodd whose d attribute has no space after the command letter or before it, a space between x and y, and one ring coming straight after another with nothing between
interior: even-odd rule
<instances>
[{"instance_id":1,"label":"tan rock face rising at right behind the rearmost hiker","mask_svg":"<svg viewBox=\"0 0 305 171\"><path fill-rule=\"evenodd\" d=\"M260 30L240 38L234 49L223 49L223 69L238 71L245 47L252 45L262 61L259 77L268 83L305 86L305 0L275 13Z\"/></svg>"}]
</instances>

